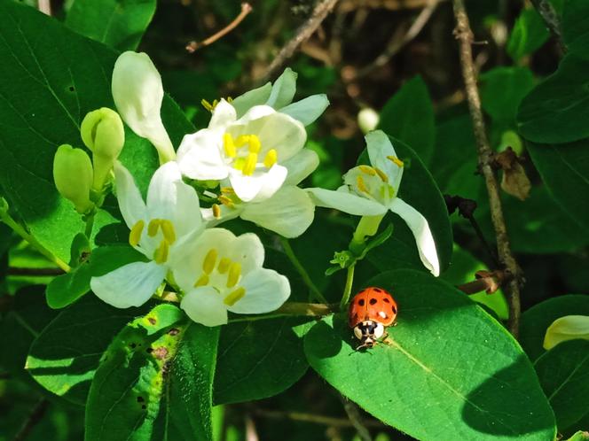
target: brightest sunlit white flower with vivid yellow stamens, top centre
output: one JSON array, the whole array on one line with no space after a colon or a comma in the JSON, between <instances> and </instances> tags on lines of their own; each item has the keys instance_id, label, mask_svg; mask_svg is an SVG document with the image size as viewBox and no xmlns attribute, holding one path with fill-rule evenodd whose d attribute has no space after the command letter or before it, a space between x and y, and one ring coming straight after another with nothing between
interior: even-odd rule
<instances>
[{"instance_id":1,"label":"brightest sunlit white flower with vivid yellow stamens, top centre","mask_svg":"<svg viewBox=\"0 0 589 441\"><path fill-rule=\"evenodd\" d=\"M208 128L185 135L177 162L189 178L226 180L242 201L260 201L285 182L287 168L280 164L302 151L306 139L299 121L268 105L252 107L238 120L222 99Z\"/></svg>"}]
</instances>

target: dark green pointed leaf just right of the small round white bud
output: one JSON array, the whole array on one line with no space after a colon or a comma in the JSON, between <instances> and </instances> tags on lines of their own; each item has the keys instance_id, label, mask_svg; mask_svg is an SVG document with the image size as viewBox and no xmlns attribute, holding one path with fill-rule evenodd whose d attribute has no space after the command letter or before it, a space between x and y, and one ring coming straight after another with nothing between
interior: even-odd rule
<instances>
[{"instance_id":1,"label":"dark green pointed leaf just right of the small round white bud","mask_svg":"<svg viewBox=\"0 0 589 441\"><path fill-rule=\"evenodd\" d=\"M411 145L425 164L430 163L436 138L434 106L419 75L405 82L384 104L379 128Z\"/></svg>"}]
</instances>

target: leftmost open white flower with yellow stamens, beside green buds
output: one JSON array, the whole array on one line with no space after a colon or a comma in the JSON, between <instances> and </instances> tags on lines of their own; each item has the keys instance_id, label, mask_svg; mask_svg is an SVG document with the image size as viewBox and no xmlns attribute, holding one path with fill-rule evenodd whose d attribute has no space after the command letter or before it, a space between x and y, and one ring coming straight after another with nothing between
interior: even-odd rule
<instances>
[{"instance_id":1,"label":"leftmost open white flower with yellow stamens, beside green buds","mask_svg":"<svg viewBox=\"0 0 589 441\"><path fill-rule=\"evenodd\" d=\"M204 223L196 191L182 182L177 163L168 162L153 174L143 201L133 177L115 163L117 198L130 228L129 242L148 262L133 262L92 277L92 291L118 308L143 305L163 282L171 267L185 258L185 251Z\"/></svg>"}]
</instances>

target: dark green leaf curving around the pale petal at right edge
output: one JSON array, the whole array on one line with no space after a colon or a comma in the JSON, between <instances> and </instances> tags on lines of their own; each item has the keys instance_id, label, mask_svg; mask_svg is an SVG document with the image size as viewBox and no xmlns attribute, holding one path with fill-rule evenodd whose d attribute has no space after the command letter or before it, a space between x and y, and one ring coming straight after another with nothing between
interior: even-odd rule
<instances>
[{"instance_id":1,"label":"dark green leaf curving around the pale petal at right edge","mask_svg":"<svg viewBox=\"0 0 589 441\"><path fill-rule=\"evenodd\" d=\"M522 313L520 344L530 360L546 352L542 347L546 329L564 315L589 315L589 296L569 294L549 298Z\"/></svg>"}]
</instances>

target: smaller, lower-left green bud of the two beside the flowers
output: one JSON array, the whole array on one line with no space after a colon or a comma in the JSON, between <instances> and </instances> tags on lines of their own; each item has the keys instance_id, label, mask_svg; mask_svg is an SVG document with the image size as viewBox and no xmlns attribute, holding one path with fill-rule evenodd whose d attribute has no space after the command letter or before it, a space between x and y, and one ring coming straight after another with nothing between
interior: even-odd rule
<instances>
[{"instance_id":1,"label":"smaller, lower-left green bud of the two beside the flowers","mask_svg":"<svg viewBox=\"0 0 589 441\"><path fill-rule=\"evenodd\" d=\"M93 174L85 151L68 144L59 146L53 159L53 180L59 194L72 201L78 213L87 213L93 206L90 202Z\"/></svg>"}]
</instances>

